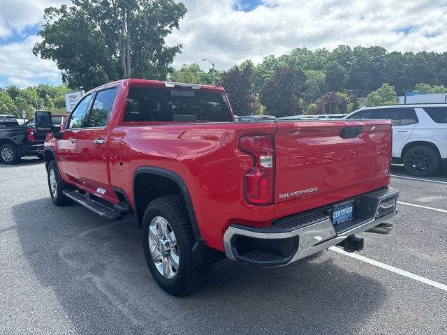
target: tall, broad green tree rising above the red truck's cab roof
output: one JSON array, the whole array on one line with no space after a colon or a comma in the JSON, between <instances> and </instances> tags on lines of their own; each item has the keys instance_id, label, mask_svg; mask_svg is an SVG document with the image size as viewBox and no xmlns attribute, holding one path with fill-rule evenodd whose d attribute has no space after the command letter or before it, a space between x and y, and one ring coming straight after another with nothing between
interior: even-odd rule
<instances>
[{"instance_id":1,"label":"tall, broad green tree rising above the red truck's cab roof","mask_svg":"<svg viewBox=\"0 0 447 335\"><path fill-rule=\"evenodd\" d=\"M182 47L165 38L185 13L173 0L72 0L45 9L33 52L56 61L73 89L125 77L164 80Z\"/></svg>"}]
</instances>

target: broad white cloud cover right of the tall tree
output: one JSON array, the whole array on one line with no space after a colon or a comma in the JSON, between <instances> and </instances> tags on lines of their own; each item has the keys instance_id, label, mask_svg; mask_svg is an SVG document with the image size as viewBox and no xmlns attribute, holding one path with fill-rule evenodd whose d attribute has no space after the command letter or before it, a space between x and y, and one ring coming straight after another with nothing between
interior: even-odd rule
<instances>
[{"instance_id":1,"label":"broad white cloud cover right of the tall tree","mask_svg":"<svg viewBox=\"0 0 447 335\"><path fill-rule=\"evenodd\" d=\"M188 13L168 43L182 43L175 66L210 58L217 68L262 61L295 47L381 45L388 51L446 51L447 1L264 0L251 12L235 1L184 0ZM408 34L402 29L413 27Z\"/></svg>"}]
</instances>

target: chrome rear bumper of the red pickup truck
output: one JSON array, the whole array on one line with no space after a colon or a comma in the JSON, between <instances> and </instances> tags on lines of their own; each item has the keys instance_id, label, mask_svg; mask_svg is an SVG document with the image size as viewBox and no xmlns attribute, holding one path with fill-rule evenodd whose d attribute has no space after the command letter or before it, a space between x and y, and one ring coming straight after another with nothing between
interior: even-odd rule
<instances>
[{"instance_id":1,"label":"chrome rear bumper of the red pickup truck","mask_svg":"<svg viewBox=\"0 0 447 335\"><path fill-rule=\"evenodd\" d=\"M223 236L225 253L232 260L255 265L287 265L335 246L349 235L375 232L373 228L395 216L398 196L393 188L368 193L362 198L359 218L342 231L332 225L330 216L321 213L308 213L268 228L230 225ZM387 227L389 232L392 227Z\"/></svg>"}]
</instances>

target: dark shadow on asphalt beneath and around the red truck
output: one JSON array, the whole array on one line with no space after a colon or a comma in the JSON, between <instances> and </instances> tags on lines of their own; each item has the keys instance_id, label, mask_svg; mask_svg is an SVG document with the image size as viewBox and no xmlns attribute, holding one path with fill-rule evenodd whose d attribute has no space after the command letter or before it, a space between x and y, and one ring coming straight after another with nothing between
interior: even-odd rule
<instances>
[{"instance_id":1,"label":"dark shadow on asphalt beneath and around the red truck","mask_svg":"<svg viewBox=\"0 0 447 335\"><path fill-rule=\"evenodd\" d=\"M275 269L223 260L202 290L171 297L147 269L133 216L112 223L50 198L12 210L34 276L57 297L47 303L82 334L351 334L388 295L323 252Z\"/></svg>"}]
</instances>

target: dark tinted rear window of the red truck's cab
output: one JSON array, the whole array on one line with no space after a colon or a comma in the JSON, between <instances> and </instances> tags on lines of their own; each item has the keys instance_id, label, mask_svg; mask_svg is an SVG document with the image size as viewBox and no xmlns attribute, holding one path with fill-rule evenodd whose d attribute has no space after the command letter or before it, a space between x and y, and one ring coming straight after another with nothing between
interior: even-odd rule
<instances>
[{"instance_id":1,"label":"dark tinted rear window of the red truck's cab","mask_svg":"<svg viewBox=\"0 0 447 335\"><path fill-rule=\"evenodd\" d=\"M197 90L131 87L124 122L233 121L224 94Z\"/></svg>"}]
</instances>

